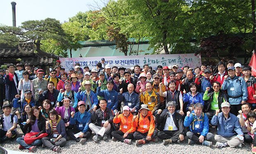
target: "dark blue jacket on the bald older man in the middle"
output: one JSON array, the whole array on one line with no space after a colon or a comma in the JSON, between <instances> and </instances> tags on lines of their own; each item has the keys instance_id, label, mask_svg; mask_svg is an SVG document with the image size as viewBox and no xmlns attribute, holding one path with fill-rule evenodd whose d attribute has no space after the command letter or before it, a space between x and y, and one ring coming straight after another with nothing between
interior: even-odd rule
<instances>
[{"instance_id":1,"label":"dark blue jacket on the bald older man in the middle","mask_svg":"<svg viewBox=\"0 0 256 154\"><path fill-rule=\"evenodd\" d=\"M118 99L119 101L123 101L124 102L124 106L129 106L128 103L132 103L131 106L129 106L130 108L136 108L136 110L138 111L140 109L140 98L139 95L136 94L135 92L133 92L130 96L129 92L125 92L123 94L118 94Z\"/></svg>"}]
</instances>

